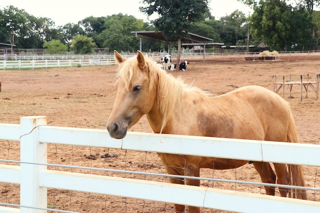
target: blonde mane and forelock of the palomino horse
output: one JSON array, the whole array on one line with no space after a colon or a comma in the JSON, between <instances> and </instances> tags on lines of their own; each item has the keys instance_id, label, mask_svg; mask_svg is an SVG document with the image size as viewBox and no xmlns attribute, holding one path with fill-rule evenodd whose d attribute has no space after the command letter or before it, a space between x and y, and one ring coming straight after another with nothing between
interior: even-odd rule
<instances>
[{"instance_id":1,"label":"blonde mane and forelock of the palomino horse","mask_svg":"<svg viewBox=\"0 0 320 213\"><path fill-rule=\"evenodd\" d=\"M165 70L159 68L155 61L149 57L144 56L144 59L146 63L145 69L149 71L149 91L153 89L154 84L158 80L156 98L158 109L163 117L161 132L171 117L173 110L177 105L180 104L185 91L194 91L197 93L202 93L206 96L211 95L210 93L205 92L197 87L192 87L191 85L185 84L180 77L174 78L171 74L168 74ZM126 89L129 90L130 87L131 89L133 87L131 82L134 82L138 79L139 71L140 68L138 66L136 57L132 57L120 64L117 78L123 79Z\"/></svg>"}]
</instances>

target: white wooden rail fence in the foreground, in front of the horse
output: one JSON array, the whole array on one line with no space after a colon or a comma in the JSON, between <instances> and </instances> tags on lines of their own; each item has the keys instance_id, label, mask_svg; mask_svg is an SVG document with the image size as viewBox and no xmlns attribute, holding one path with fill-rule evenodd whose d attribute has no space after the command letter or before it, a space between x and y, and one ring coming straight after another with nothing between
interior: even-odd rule
<instances>
[{"instance_id":1,"label":"white wooden rail fence in the foreground, in front of the horse","mask_svg":"<svg viewBox=\"0 0 320 213\"><path fill-rule=\"evenodd\" d=\"M0 139L20 141L21 161L20 166L0 164L0 182L20 184L20 208L0 206L0 212L46 212L47 188L236 212L320 212L320 202L156 181L52 171L48 170L46 165L48 143L272 161L316 167L320 166L320 145L138 132L128 132L124 139L114 139L109 137L106 130L47 126L45 116L21 117L20 125L0 124Z\"/></svg>"}]
</instances>

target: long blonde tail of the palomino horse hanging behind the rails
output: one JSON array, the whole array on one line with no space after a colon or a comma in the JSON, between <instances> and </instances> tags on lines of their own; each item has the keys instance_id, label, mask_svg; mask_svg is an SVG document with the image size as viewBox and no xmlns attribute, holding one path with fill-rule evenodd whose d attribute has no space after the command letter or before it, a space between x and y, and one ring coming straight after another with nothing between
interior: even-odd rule
<instances>
[{"instance_id":1,"label":"long blonde tail of the palomino horse hanging behind the rails","mask_svg":"<svg viewBox=\"0 0 320 213\"><path fill-rule=\"evenodd\" d=\"M289 126L288 126L288 132L287 132L287 141L291 143L299 143L298 131L296 130L296 126L295 126L291 112L290 112ZM303 169L301 165L289 164L288 170L291 177L290 185L305 186L305 179L304 179ZM292 196L293 198L307 200L306 190L292 189L292 193L293 193L293 196Z\"/></svg>"}]
</instances>

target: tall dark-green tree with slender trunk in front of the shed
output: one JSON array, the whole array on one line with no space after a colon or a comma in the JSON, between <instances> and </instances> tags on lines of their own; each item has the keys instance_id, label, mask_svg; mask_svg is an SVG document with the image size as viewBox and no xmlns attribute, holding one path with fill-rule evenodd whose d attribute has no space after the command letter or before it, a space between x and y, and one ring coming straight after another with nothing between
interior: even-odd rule
<instances>
[{"instance_id":1,"label":"tall dark-green tree with slender trunk in front of the shed","mask_svg":"<svg viewBox=\"0 0 320 213\"><path fill-rule=\"evenodd\" d=\"M143 0L146 7L140 11L148 16L157 13L160 17L152 21L167 40L178 41L177 63L180 61L181 38L187 37L191 23L203 20L208 14L209 0Z\"/></svg>"}]
</instances>

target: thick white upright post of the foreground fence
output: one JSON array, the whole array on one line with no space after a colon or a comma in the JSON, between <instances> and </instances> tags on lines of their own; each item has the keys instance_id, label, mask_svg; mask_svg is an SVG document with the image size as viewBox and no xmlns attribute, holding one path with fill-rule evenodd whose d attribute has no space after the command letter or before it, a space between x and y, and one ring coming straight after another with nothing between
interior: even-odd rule
<instances>
[{"instance_id":1,"label":"thick white upright post of the foreground fence","mask_svg":"<svg viewBox=\"0 0 320 213\"><path fill-rule=\"evenodd\" d=\"M20 205L47 208L47 188L39 187L39 171L46 170L47 144L39 143L38 126L47 125L46 116L20 117ZM26 163L25 163L26 162ZM20 213L44 213L45 210L21 207Z\"/></svg>"}]
</instances>

